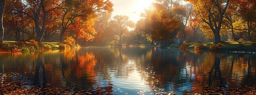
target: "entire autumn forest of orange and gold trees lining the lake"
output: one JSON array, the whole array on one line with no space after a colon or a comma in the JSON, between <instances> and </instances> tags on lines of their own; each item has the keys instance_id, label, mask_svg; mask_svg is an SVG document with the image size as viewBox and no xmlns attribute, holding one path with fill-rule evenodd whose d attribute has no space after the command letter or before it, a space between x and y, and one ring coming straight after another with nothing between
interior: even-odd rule
<instances>
[{"instance_id":1,"label":"entire autumn forest of orange and gold trees lining the lake","mask_svg":"<svg viewBox=\"0 0 256 95\"><path fill-rule=\"evenodd\" d=\"M137 22L112 15L115 5L110 0L0 1L0 43L15 41L21 44L17 48L41 42L60 42L56 45L62 47L218 46L223 41L256 46L254 0L155 0Z\"/></svg>"}]
</instances>

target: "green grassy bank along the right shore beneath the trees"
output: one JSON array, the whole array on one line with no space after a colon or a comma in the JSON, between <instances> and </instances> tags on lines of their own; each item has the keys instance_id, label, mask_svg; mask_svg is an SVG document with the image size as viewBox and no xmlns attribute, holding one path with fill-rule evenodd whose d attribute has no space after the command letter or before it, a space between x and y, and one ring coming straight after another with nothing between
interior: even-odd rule
<instances>
[{"instance_id":1,"label":"green grassy bank along the right shore beneath the trees","mask_svg":"<svg viewBox=\"0 0 256 95\"><path fill-rule=\"evenodd\" d=\"M253 42L241 42L243 44L243 47L239 47L239 42L229 42L225 41L221 43L220 50L221 51L249 51L249 52L255 52L256 51L256 46L253 46ZM203 44L203 50L209 50L210 45L212 43L202 43ZM196 44L193 43L188 43L187 44L187 49L194 49L194 46ZM178 48L180 45L176 44L171 44L167 47L171 48Z\"/></svg>"}]
</instances>

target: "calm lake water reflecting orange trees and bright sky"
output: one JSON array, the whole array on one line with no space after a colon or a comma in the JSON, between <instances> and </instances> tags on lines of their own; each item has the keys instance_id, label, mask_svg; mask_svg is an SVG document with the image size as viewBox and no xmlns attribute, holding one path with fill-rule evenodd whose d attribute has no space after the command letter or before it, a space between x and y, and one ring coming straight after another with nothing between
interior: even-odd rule
<instances>
[{"instance_id":1,"label":"calm lake water reflecting orange trees and bright sky","mask_svg":"<svg viewBox=\"0 0 256 95\"><path fill-rule=\"evenodd\" d=\"M256 55L156 47L89 47L0 53L0 81L112 94L155 94L256 84ZM1 83L0 83L1 84Z\"/></svg>"}]
</instances>

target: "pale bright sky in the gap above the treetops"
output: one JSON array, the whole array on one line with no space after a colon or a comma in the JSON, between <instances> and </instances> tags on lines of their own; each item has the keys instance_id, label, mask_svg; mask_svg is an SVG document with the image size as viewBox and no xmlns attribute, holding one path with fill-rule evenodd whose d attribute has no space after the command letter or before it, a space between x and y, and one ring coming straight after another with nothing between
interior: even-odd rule
<instances>
[{"instance_id":1,"label":"pale bright sky in the gap above the treetops","mask_svg":"<svg viewBox=\"0 0 256 95\"><path fill-rule=\"evenodd\" d=\"M154 0L110 0L114 4L114 15L126 15L134 23L139 21L140 15L145 8L151 6ZM184 3L184 2L183 2Z\"/></svg>"}]
</instances>

